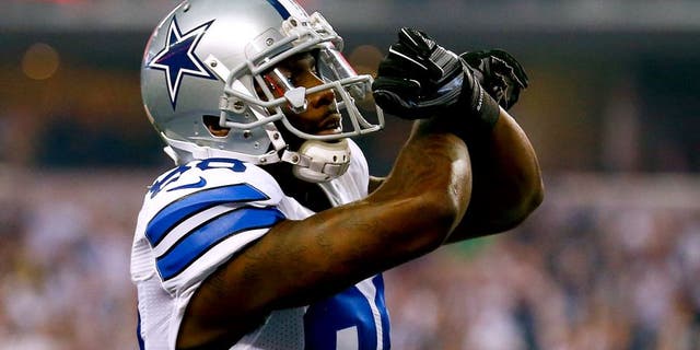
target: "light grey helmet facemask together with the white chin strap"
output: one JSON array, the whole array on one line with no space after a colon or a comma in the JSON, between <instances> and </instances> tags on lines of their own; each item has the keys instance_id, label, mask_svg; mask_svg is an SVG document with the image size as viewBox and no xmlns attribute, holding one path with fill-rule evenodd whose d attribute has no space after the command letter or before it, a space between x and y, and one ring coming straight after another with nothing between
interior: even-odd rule
<instances>
[{"instance_id":1,"label":"light grey helmet facemask together with the white chin strap","mask_svg":"<svg viewBox=\"0 0 700 350\"><path fill-rule=\"evenodd\" d=\"M384 116L377 108L376 121L368 121L355 101L371 95L372 77L358 75L340 54L341 38L318 13L305 21L290 18L281 33L268 30L246 47L246 62L226 71L215 57L206 62L225 80L221 97L220 126L253 132L262 128L270 140L270 151L245 161L268 164L292 163L294 174L308 182L326 182L342 175L350 153L346 138L366 135L384 127ZM303 52L314 52L316 73L323 83L310 89L295 86L277 68L284 60ZM223 78L225 77L225 78ZM256 89L257 86L257 89ZM306 132L294 126L285 115L303 113L310 95L332 91L345 121L343 130L330 135ZM245 115L245 118L241 118ZM305 140L299 150L291 150L278 126ZM287 132L284 132L287 133ZM289 140L288 140L289 141Z\"/></svg>"}]
</instances>

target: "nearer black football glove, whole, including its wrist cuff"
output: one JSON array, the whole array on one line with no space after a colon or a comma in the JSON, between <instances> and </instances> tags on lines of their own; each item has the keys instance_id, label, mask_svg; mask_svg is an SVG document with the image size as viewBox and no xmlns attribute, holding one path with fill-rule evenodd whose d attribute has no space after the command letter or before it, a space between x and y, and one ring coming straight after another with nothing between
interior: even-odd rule
<instances>
[{"instance_id":1,"label":"nearer black football glove, whole, including its wrist cuff","mask_svg":"<svg viewBox=\"0 0 700 350\"><path fill-rule=\"evenodd\" d=\"M472 70L456 54L413 28L399 31L398 42L380 63L372 90L382 109L405 119L454 110L492 126L499 116L498 104L481 89Z\"/></svg>"}]
</instances>

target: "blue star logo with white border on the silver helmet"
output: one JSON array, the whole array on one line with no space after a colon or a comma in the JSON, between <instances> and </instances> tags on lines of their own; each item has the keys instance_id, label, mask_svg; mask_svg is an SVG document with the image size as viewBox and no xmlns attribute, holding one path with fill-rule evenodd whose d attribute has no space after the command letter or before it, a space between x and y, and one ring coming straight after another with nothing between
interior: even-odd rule
<instances>
[{"instance_id":1,"label":"blue star logo with white border on the silver helmet","mask_svg":"<svg viewBox=\"0 0 700 350\"><path fill-rule=\"evenodd\" d=\"M171 97L173 109L177 105L183 77L191 75L215 80L217 78L207 70L205 63L195 55L195 49L202 36L214 21L207 22L185 34L179 30L177 20L173 18L167 31L167 39L162 51L158 52L148 63L147 68L165 72L167 80L167 94Z\"/></svg>"}]
</instances>

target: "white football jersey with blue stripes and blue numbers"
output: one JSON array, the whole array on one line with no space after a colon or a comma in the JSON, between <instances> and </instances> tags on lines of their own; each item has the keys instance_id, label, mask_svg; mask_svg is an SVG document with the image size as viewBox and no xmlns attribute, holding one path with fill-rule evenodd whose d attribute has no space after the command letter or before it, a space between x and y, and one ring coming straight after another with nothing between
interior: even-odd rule
<instances>
[{"instance_id":1,"label":"white football jersey with blue stripes and blue numbers","mask_svg":"<svg viewBox=\"0 0 700 350\"><path fill-rule=\"evenodd\" d=\"M322 188L332 206L368 195L366 160ZM285 196L262 168L232 159L194 161L161 175L145 195L131 253L141 349L175 349L185 308L200 283L277 222L314 212ZM270 277L273 278L273 277ZM231 349L388 349L384 282L377 275L328 300L276 311Z\"/></svg>"}]
</instances>

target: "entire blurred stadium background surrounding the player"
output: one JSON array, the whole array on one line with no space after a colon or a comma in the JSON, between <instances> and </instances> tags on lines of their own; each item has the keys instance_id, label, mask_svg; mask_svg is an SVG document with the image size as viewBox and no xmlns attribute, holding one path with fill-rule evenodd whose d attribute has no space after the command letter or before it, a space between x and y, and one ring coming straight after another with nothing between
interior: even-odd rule
<instances>
[{"instance_id":1,"label":"entire blurred stadium background surrounding the player","mask_svg":"<svg viewBox=\"0 0 700 350\"><path fill-rule=\"evenodd\" d=\"M700 2L306 0L372 71L398 26L527 68L521 228L387 279L396 349L700 349ZM176 0L1 0L0 349L135 349L128 258L171 164L139 66ZM235 33L232 33L235 35ZM386 174L408 125L361 140Z\"/></svg>"}]
</instances>

